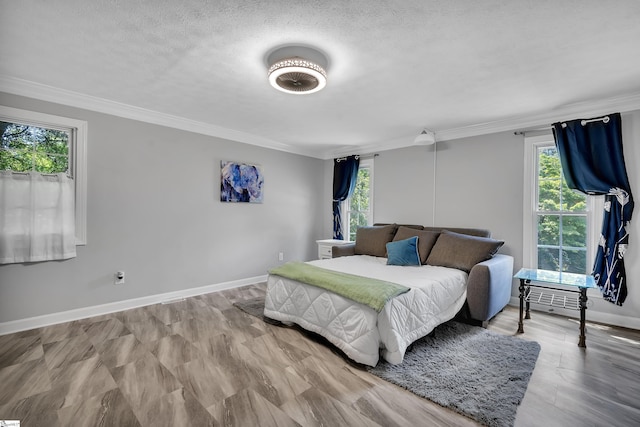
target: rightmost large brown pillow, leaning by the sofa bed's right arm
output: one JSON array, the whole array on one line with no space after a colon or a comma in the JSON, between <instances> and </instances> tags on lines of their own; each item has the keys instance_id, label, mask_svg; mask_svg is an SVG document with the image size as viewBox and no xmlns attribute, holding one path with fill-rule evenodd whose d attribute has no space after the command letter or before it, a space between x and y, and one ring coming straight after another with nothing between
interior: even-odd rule
<instances>
[{"instance_id":1,"label":"rightmost large brown pillow, leaning by the sofa bed's right arm","mask_svg":"<svg viewBox=\"0 0 640 427\"><path fill-rule=\"evenodd\" d=\"M471 271L479 262L491 259L504 245L501 240L476 237L444 230L433 245L427 264Z\"/></svg>"}]
</instances>

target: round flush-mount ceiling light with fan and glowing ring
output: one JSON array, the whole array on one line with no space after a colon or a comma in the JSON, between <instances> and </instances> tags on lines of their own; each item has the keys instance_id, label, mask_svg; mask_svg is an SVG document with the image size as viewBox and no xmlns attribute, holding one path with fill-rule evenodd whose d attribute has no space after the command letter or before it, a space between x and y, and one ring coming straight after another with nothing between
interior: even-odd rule
<instances>
[{"instance_id":1,"label":"round flush-mount ceiling light with fan and glowing ring","mask_svg":"<svg viewBox=\"0 0 640 427\"><path fill-rule=\"evenodd\" d=\"M282 92L305 95L318 92L327 85L327 59L316 49L282 47L269 54L267 63L269 83Z\"/></svg>"}]
</instances>

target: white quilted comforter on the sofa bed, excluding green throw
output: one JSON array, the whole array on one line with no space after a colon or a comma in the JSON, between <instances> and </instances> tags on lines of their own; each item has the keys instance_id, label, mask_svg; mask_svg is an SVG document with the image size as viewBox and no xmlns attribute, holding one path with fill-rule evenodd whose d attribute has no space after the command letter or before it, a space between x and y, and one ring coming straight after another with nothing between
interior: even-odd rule
<instances>
[{"instance_id":1,"label":"white quilted comforter on the sofa bed, excluding green throw","mask_svg":"<svg viewBox=\"0 0 640 427\"><path fill-rule=\"evenodd\" d=\"M462 308L467 297L467 273L430 265L400 267L386 263L386 258L368 255L309 262L411 288L388 301L380 313L322 288L270 275L264 314L322 335L358 363L375 366L380 350L389 363L401 363L412 342L452 319Z\"/></svg>"}]
</instances>

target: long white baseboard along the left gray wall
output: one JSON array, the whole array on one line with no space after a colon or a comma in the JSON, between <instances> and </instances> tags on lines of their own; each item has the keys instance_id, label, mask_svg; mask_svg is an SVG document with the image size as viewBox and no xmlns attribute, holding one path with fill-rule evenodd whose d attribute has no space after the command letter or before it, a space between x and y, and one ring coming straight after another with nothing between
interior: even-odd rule
<instances>
[{"instance_id":1,"label":"long white baseboard along the left gray wall","mask_svg":"<svg viewBox=\"0 0 640 427\"><path fill-rule=\"evenodd\" d=\"M250 277L230 282L217 283L214 285L201 286L198 288L183 289L180 291L167 292L164 294L149 295L141 298L134 298L102 305L94 305L91 307L83 307L75 310L61 311L58 313L29 317L26 319L12 320L10 322L0 323L0 335L12 334L14 332L41 328L43 326L55 325L58 323L71 322L73 320L86 319L88 317L115 313L117 311L144 307L147 305L193 297L196 295L208 294L211 292L219 292L225 289L239 288L241 286L265 282L266 280L266 275Z\"/></svg>"}]
</instances>

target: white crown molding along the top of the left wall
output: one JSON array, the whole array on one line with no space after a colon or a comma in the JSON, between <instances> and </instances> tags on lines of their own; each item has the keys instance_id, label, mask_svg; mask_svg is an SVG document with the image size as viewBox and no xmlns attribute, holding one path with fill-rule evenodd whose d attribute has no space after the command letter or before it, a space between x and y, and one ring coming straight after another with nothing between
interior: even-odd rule
<instances>
[{"instance_id":1,"label":"white crown molding along the top of the left wall","mask_svg":"<svg viewBox=\"0 0 640 427\"><path fill-rule=\"evenodd\" d=\"M303 150L299 147L283 144L247 132L190 120L171 114L160 113L121 102L85 95L79 92L60 89L28 80L17 79L15 77L0 75L0 91L11 93L13 95L34 98L40 101L53 102L69 107L110 114L112 116L118 116L125 119L138 120L145 123L167 126L174 129L185 130L230 141L242 142L263 148L285 151L287 153L320 157L317 152Z\"/></svg>"}]
</instances>

